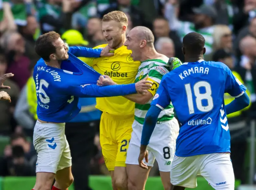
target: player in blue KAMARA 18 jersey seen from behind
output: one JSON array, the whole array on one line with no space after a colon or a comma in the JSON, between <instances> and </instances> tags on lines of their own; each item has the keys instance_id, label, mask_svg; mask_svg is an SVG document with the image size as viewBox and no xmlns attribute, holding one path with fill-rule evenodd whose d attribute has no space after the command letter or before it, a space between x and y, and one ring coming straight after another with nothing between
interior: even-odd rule
<instances>
[{"instance_id":1,"label":"player in blue KAMARA 18 jersey seen from behind","mask_svg":"<svg viewBox=\"0 0 256 190\"><path fill-rule=\"evenodd\" d=\"M196 32L184 36L185 63L162 78L142 130L140 150L148 160L146 147L157 117L172 101L182 124L171 163L174 190L196 188L197 175L216 190L234 190L226 115L247 107L250 100L246 87L224 63L203 60L204 44L204 37ZM228 105L224 93L235 97Z\"/></svg>"}]
</instances>

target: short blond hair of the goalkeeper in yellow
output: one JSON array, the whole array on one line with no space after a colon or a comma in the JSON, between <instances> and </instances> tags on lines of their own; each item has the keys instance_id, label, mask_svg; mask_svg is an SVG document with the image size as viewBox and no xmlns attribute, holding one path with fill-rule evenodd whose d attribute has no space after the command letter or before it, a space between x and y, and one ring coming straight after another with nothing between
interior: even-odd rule
<instances>
[{"instance_id":1,"label":"short blond hair of the goalkeeper in yellow","mask_svg":"<svg viewBox=\"0 0 256 190\"><path fill-rule=\"evenodd\" d=\"M102 22L107 22L110 20L114 20L116 22L120 22L121 24L128 26L128 18L126 14L122 11L115 10L109 12L108 14L105 14L102 18Z\"/></svg>"}]
</instances>

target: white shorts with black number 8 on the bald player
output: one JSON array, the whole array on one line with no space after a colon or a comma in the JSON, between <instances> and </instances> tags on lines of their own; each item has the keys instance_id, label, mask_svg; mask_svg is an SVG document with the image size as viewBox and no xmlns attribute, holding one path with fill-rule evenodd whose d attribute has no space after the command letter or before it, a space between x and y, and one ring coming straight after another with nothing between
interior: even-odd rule
<instances>
[{"instance_id":1,"label":"white shorts with black number 8 on the bald player","mask_svg":"<svg viewBox=\"0 0 256 190\"><path fill-rule=\"evenodd\" d=\"M142 128L143 125L138 123L136 120L133 122L133 131L127 151L126 164L139 164L138 157L140 154ZM153 166L156 159L161 172L170 172L179 129L178 121L175 118L161 124L156 124L147 147L148 163L146 163L145 159L144 163L148 166Z\"/></svg>"}]
</instances>

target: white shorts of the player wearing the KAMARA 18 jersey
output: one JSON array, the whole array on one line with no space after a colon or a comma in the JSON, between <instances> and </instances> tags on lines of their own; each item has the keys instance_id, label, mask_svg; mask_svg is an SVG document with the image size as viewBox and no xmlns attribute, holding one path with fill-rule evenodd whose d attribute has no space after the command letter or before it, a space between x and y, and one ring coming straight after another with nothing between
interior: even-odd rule
<instances>
[{"instance_id":1,"label":"white shorts of the player wearing the KAMARA 18 jersey","mask_svg":"<svg viewBox=\"0 0 256 190\"><path fill-rule=\"evenodd\" d=\"M196 188L196 176L203 176L215 190L234 190L235 177L230 153L202 154L189 157L174 156L171 183Z\"/></svg>"}]
</instances>

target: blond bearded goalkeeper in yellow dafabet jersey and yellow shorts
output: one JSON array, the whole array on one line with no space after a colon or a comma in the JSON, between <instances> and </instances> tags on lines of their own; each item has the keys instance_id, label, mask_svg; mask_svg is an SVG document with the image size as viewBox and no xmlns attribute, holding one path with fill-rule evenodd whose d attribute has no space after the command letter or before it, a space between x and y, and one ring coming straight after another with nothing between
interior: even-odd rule
<instances>
[{"instance_id":1,"label":"blond bearded goalkeeper in yellow dafabet jersey and yellow shorts","mask_svg":"<svg viewBox=\"0 0 256 190\"><path fill-rule=\"evenodd\" d=\"M108 75L117 84L129 84L135 81L140 65L130 56L132 51L124 46L128 18L121 11L113 11L103 16L102 32L114 56L105 58L85 58L82 60L102 75ZM112 177L112 186L116 190L127 190L126 154L131 139L134 121L134 102L124 97L96 99L96 108L102 113L100 121L100 144L108 170Z\"/></svg>"}]
</instances>

